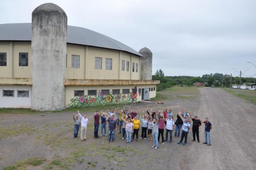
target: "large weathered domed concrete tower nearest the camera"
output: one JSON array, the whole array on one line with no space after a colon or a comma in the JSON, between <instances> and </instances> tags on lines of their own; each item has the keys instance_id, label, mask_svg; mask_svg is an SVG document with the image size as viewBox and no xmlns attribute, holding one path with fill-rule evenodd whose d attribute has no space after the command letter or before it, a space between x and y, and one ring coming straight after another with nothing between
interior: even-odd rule
<instances>
[{"instance_id":1,"label":"large weathered domed concrete tower nearest the camera","mask_svg":"<svg viewBox=\"0 0 256 170\"><path fill-rule=\"evenodd\" d=\"M32 109L65 108L67 15L53 3L32 12Z\"/></svg>"}]
</instances>

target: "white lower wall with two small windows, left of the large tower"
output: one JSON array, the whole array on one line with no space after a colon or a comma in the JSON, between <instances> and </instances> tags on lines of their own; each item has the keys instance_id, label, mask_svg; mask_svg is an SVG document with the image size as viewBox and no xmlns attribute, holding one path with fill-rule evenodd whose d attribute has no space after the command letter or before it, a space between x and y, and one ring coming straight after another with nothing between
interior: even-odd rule
<instances>
[{"instance_id":1,"label":"white lower wall with two small windows, left of the large tower","mask_svg":"<svg viewBox=\"0 0 256 170\"><path fill-rule=\"evenodd\" d=\"M3 97L3 90L14 90L14 97ZM17 97L17 90L28 90L29 98ZM31 86L0 85L0 107L31 108Z\"/></svg>"}]
</instances>

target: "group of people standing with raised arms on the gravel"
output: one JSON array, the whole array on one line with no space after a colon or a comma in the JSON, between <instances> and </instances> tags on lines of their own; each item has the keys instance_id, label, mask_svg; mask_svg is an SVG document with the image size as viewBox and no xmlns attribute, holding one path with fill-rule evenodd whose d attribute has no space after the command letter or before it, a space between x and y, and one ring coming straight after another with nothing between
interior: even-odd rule
<instances>
[{"instance_id":1,"label":"group of people standing with raised arms on the gravel","mask_svg":"<svg viewBox=\"0 0 256 170\"><path fill-rule=\"evenodd\" d=\"M94 138L100 138L99 133L99 124L101 123L100 135L107 136L107 123L108 123L108 141L115 141L115 131L119 130L119 133L122 133L122 139L126 138L127 143L131 143L134 141L134 137L136 135L136 141L138 141L139 130L141 127L141 137L140 139L149 138L150 141L154 141L154 149L158 148L158 143L160 141L160 137L162 139L162 143L165 141L172 143L172 131L175 130L174 138L180 138L180 130L181 130L181 138L177 144L187 144L187 135L189 133L191 123L192 124L192 134L193 140L197 138L199 140L199 127L202 123L205 124L205 141L203 144L207 144L207 146L211 145L210 138L210 130L212 129L212 124L209 122L208 118L205 120L201 120L197 115L192 118L191 112L184 111L184 108L181 112L177 114L177 119L174 121L172 110L167 108L163 108L163 112L161 113L159 109L156 112L153 112L152 109L149 111L145 109L142 114L139 115L139 108L137 107L137 111L131 110L131 107L128 109L123 108L119 110L119 108L114 110L111 109L107 112L99 112L96 111L93 115L94 117ZM87 124L88 118L87 114L83 116L78 111L78 114L75 116L73 113L74 119L74 138L77 138L79 127L81 126L81 140L86 140L86 132L87 132ZM101 119L101 122L100 122ZM191 122L192 121L192 122ZM103 134L104 130L104 134ZM164 139L164 130L165 139ZM169 138L168 138L169 135ZM196 138L195 138L196 136ZM183 142L184 139L184 143Z\"/></svg>"}]
</instances>

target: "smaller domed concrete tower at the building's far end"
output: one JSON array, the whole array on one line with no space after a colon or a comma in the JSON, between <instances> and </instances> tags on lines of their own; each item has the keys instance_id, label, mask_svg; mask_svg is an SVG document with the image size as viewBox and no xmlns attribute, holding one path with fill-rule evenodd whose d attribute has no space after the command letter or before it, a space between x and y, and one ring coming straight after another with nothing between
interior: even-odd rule
<instances>
[{"instance_id":1,"label":"smaller domed concrete tower at the building's far end","mask_svg":"<svg viewBox=\"0 0 256 170\"><path fill-rule=\"evenodd\" d=\"M152 80L152 52L144 47L139 53L144 56L140 62L140 80Z\"/></svg>"}]
</instances>

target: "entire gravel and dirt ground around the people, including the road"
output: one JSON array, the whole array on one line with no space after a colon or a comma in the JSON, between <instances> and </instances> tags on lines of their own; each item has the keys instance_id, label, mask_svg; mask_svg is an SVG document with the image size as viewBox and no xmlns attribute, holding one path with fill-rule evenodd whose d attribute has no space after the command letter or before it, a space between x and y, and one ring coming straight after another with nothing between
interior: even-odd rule
<instances>
[{"instance_id":1,"label":"entire gravel and dirt ground around the people, including the road","mask_svg":"<svg viewBox=\"0 0 256 170\"><path fill-rule=\"evenodd\" d=\"M148 139L139 138L139 141L126 144L117 132L115 143L109 144L107 136L94 139L93 113L87 114L90 123L86 141L73 139L72 113L1 114L0 169L8 165L28 170L256 169L256 105L222 89L199 88L198 91L166 91L170 98L166 98L164 104L145 101L132 104L131 109L138 106L140 111L145 108L162 111L163 107L168 107L177 114L185 107L192 111L192 115L208 117L212 123L212 146L202 144L204 126L200 127L201 143L192 142L191 131L186 146L177 144L180 138L164 144L160 139L159 149L154 150ZM139 137L140 134L141 130ZM46 161L39 166L19 161L34 157L45 158Z\"/></svg>"}]
</instances>

